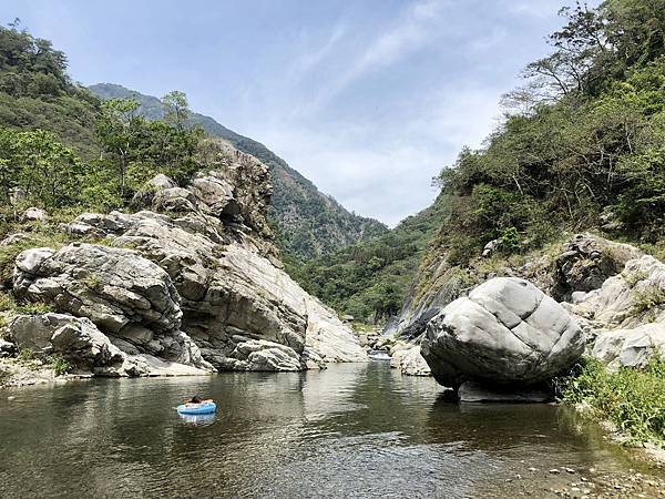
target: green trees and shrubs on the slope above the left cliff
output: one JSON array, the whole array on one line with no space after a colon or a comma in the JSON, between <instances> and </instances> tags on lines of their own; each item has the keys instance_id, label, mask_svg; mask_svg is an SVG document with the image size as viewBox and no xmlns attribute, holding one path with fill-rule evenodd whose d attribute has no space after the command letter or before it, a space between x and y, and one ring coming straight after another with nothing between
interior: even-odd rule
<instances>
[{"instance_id":1,"label":"green trees and shrubs on the slope above the left cliff","mask_svg":"<svg viewBox=\"0 0 665 499\"><path fill-rule=\"evenodd\" d=\"M28 205L124 207L156 173L186 182L201 166L202 138L185 126L186 96L166 94L163 120L144 119L139 105L102 103L70 81L64 54L49 41L0 27L0 225Z\"/></svg>"}]
</instances>

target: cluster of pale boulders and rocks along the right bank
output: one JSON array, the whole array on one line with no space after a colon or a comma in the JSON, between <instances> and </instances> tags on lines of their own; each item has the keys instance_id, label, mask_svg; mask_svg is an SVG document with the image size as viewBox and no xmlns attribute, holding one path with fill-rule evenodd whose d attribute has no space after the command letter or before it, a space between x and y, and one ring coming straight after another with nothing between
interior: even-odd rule
<instances>
[{"instance_id":1,"label":"cluster of pale boulders and rocks along the right bank","mask_svg":"<svg viewBox=\"0 0 665 499\"><path fill-rule=\"evenodd\" d=\"M665 264L592 234L574 236L550 258L540 262L545 275L533 279L546 293L518 276L533 264L441 303L457 286L444 279L405 320L410 342L393 365L419 374L427 361L464 401L540 401L551 397L548 381L584 353L610 368L665 355Z\"/></svg>"}]
</instances>

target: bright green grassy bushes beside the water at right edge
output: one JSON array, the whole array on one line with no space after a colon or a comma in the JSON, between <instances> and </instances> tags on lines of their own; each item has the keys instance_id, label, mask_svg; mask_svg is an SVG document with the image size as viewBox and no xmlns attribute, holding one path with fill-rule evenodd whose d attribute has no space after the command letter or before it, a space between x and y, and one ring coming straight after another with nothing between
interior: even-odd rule
<instances>
[{"instance_id":1,"label":"bright green grassy bushes beside the water at right edge","mask_svg":"<svg viewBox=\"0 0 665 499\"><path fill-rule=\"evenodd\" d=\"M665 361L654 357L643 369L608 371L586 359L562 387L563 400L579 404L598 420L608 420L635 441L665 442Z\"/></svg>"}]
</instances>

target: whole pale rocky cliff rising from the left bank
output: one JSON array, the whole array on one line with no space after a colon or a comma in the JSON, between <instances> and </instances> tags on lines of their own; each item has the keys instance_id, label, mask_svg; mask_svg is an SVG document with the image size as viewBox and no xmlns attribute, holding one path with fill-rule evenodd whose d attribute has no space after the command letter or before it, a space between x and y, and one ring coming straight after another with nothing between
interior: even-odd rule
<instances>
[{"instance_id":1,"label":"whole pale rocky cliff rising from the left bank","mask_svg":"<svg viewBox=\"0 0 665 499\"><path fill-rule=\"evenodd\" d=\"M160 175L136 194L136 213L81 214L60 225L69 244L21 253L16 297L90 319L85 330L68 327L78 327L83 349L85 338L108 338L113 355L92 364L85 357L98 374L154 374L151 363L162 361L299 370L365 360L350 328L280 269L266 221L266 166L215 141L201 154L208 167L186 189ZM17 336L21 322L7 326L19 349L34 343ZM47 322L53 327L40 333L40 349L80 365L76 342L53 339L66 320ZM136 368L141 363L147 367Z\"/></svg>"}]
</instances>

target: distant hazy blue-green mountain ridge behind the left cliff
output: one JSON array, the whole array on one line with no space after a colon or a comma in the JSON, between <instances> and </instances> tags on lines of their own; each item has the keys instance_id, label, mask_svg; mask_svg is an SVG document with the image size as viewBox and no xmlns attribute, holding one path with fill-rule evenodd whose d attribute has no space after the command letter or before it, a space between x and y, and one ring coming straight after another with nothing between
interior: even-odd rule
<instances>
[{"instance_id":1,"label":"distant hazy blue-green mountain ridge behind the left cliff","mask_svg":"<svg viewBox=\"0 0 665 499\"><path fill-rule=\"evenodd\" d=\"M139 112L147 119L164 116L162 102L155 96L111 83L95 84L90 90L102 99L136 99L141 103ZM270 222L277 234L277 245L293 265L387 231L376 220L349 213L262 143L239 135L203 114L192 113L188 122L228 141L270 169L274 186Z\"/></svg>"}]
</instances>

